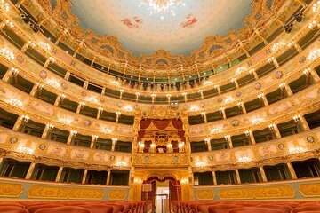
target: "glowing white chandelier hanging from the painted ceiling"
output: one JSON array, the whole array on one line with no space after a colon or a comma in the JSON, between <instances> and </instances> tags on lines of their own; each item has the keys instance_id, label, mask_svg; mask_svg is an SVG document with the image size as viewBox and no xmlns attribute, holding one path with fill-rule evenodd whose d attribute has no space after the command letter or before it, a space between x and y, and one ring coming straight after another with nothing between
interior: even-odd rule
<instances>
[{"instance_id":1,"label":"glowing white chandelier hanging from the painted ceiling","mask_svg":"<svg viewBox=\"0 0 320 213\"><path fill-rule=\"evenodd\" d=\"M170 12L172 16L175 16L174 10L177 6L185 6L181 0L141 0L140 5L148 5L148 11L150 15L154 13L161 14L161 19L164 19L164 13ZM139 5L139 6L140 6Z\"/></svg>"}]
</instances>

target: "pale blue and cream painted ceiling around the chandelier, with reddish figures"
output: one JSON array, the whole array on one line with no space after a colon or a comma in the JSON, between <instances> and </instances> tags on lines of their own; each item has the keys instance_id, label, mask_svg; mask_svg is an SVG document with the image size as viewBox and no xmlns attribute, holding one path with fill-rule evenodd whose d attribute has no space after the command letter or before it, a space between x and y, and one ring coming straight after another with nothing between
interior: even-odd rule
<instances>
[{"instance_id":1,"label":"pale blue and cream painted ceiling around the chandelier, with reddish figures","mask_svg":"<svg viewBox=\"0 0 320 213\"><path fill-rule=\"evenodd\" d=\"M171 12L149 14L142 0L72 0L80 26L99 35L116 36L134 55L158 49L190 55L210 35L242 28L252 0L182 0ZM163 19L161 18L163 16Z\"/></svg>"}]
</instances>

